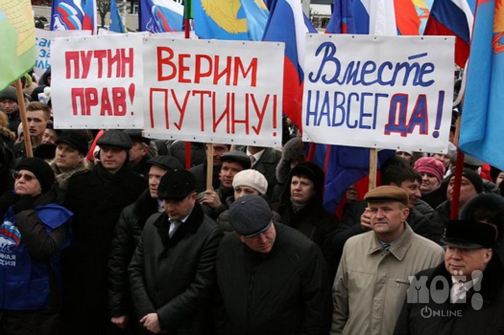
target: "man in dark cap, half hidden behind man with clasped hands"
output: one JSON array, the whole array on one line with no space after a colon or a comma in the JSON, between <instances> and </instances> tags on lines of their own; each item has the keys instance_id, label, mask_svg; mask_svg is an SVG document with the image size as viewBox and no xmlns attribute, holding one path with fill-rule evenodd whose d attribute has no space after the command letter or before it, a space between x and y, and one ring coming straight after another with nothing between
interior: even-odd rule
<instances>
[{"instance_id":1,"label":"man in dark cap, half hidden behind man with clasped hands","mask_svg":"<svg viewBox=\"0 0 504 335\"><path fill-rule=\"evenodd\" d=\"M120 328L128 327L131 333L137 328L137 320L131 301L128 266L145 222L152 214L163 211L162 202L157 196L159 181L169 171L184 170L175 157L168 155L157 156L147 163L150 165L149 189L122 210L110 244L108 260L108 309L111 321Z\"/></svg>"}]
</instances>

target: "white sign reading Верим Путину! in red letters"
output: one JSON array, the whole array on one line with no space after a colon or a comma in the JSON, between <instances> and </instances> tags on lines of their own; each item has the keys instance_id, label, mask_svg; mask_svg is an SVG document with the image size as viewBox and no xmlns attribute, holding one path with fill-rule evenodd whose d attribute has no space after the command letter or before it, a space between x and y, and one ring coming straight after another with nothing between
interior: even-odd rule
<instances>
[{"instance_id":1,"label":"white sign reading \u0412\u0435\u0440\u0438\u043c \u041f\u0443\u0442\u0438\u043d\u0443! in red letters","mask_svg":"<svg viewBox=\"0 0 504 335\"><path fill-rule=\"evenodd\" d=\"M145 135L196 142L282 142L284 44L143 39Z\"/></svg>"}]
</instances>

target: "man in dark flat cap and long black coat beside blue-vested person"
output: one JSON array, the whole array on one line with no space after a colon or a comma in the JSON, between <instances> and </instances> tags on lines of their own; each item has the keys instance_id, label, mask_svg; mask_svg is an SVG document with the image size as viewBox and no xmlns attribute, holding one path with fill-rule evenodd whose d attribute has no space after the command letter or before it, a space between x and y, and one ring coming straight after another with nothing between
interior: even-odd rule
<instances>
[{"instance_id":1,"label":"man in dark flat cap and long black coat beside blue-vested person","mask_svg":"<svg viewBox=\"0 0 504 335\"><path fill-rule=\"evenodd\" d=\"M68 334L102 334L110 327L107 310L107 261L115 224L146 181L128 164L130 137L106 131L97 141L100 162L69 180L65 207L75 216L72 246L64 256L64 322ZM110 333L110 332L107 332Z\"/></svg>"}]
</instances>

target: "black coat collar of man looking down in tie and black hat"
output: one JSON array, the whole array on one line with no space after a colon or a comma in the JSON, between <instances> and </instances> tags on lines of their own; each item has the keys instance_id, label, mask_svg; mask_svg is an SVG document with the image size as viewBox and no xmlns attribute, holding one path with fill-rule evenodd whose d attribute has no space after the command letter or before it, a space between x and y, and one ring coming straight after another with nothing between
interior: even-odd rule
<instances>
[{"instance_id":1,"label":"black coat collar of man looking down in tie and black hat","mask_svg":"<svg viewBox=\"0 0 504 335\"><path fill-rule=\"evenodd\" d=\"M170 229L170 221L168 220L168 215L166 213L160 215L159 218L154 222L154 226L157 228L159 236L161 236L161 242L163 243L165 249L177 244L177 242L180 241L185 235L194 234L202 224L204 215L205 214L203 213L201 206L196 203L187 220L185 220L185 222L182 223L180 227L178 227L171 238L168 234Z\"/></svg>"}]
</instances>

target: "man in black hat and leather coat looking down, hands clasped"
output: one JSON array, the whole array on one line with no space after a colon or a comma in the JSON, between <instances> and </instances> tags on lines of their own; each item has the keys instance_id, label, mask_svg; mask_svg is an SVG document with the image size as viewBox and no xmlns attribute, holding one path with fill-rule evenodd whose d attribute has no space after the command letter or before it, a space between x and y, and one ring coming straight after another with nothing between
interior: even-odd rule
<instances>
[{"instance_id":1,"label":"man in black hat and leather coat looking down, hands clasped","mask_svg":"<svg viewBox=\"0 0 504 335\"><path fill-rule=\"evenodd\" d=\"M212 333L210 302L223 233L196 203L195 187L185 170L161 178L164 212L147 220L129 267L137 317L150 332Z\"/></svg>"}]
</instances>

